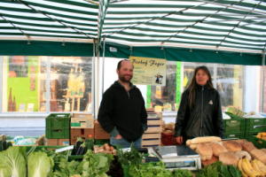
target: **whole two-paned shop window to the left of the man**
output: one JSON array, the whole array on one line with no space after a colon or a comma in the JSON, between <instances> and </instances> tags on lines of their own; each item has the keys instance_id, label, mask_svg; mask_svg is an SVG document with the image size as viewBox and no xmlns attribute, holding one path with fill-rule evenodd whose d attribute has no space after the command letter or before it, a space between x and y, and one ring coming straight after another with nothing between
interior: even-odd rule
<instances>
[{"instance_id":1,"label":"whole two-paned shop window to the left of the man","mask_svg":"<svg viewBox=\"0 0 266 177\"><path fill-rule=\"evenodd\" d=\"M91 58L3 58L2 112L91 112Z\"/></svg>"}]
</instances>

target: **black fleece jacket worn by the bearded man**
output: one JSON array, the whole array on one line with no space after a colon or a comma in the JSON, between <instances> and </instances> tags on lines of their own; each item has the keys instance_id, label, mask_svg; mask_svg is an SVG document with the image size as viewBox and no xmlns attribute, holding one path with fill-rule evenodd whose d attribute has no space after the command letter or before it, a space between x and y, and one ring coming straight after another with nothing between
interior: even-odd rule
<instances>
[{"instance_id":1,"label":"black fleece jacket worn by the bearded man","mask_svg":"<svg viewBox=\"0 0 266 177\"><path fill-rule=\"evenodd\" d=\"M147 127L145 101L140 90L131 84L128 92L115 81L103 95L98 122L109 134L116 128L129 142L136 141Z\"/></svg>"}]
</instances>

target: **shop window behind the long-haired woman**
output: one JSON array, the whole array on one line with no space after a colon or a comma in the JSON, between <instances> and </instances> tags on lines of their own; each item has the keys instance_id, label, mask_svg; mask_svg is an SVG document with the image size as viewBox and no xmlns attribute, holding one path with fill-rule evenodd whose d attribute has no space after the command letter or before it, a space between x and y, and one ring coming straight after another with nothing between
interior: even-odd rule
<instances>
[{"instance_id":1,"label":"shop window behind the long-haired woman","mask_svg":"<svg viewBox=\"0 0 266 177\"><path fill-rule=\"evenodd\" d=\"M184 89L192 81L194 69L200 65L206 65L210 71L223 110L229 105L242 109L245 66L192 62L182 62L182 65L181 62L168 62L166 86L147 86L147 107L160 106L162 112L176 112Z\"/></svg>"}]
</instances>

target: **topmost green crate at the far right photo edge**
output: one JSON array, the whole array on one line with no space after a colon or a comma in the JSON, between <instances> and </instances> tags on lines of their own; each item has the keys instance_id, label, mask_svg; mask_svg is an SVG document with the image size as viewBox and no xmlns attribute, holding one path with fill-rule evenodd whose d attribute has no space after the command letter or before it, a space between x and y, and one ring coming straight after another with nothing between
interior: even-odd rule
<instances>
[{"instance_id":1,"label":"topmost green crate at the far right photo edge","mask_svg":"<svg viewBox=\"0 0 266 177\"><path fill-rule=\"evenodd\" d=\"M246 132L266 132L266 118L246 119Z\"/></svg>"}]
</instances>

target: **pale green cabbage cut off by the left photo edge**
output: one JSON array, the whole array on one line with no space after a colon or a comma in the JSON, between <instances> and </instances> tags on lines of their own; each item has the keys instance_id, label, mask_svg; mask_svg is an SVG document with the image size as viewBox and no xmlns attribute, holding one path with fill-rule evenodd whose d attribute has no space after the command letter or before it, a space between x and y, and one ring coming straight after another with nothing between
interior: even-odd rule
<instances>
[{"instance_id":1,"label":"pale green cabbage cut off by the left photo edge","mask_svg":"<svg viewBox=\"0 0 266 177\"><path fill-rule=\"evenodd\" d=\"M10 147L0 152L1 177L26 177L26 159L20 147Z\"/></svg>"}]
</instances>

